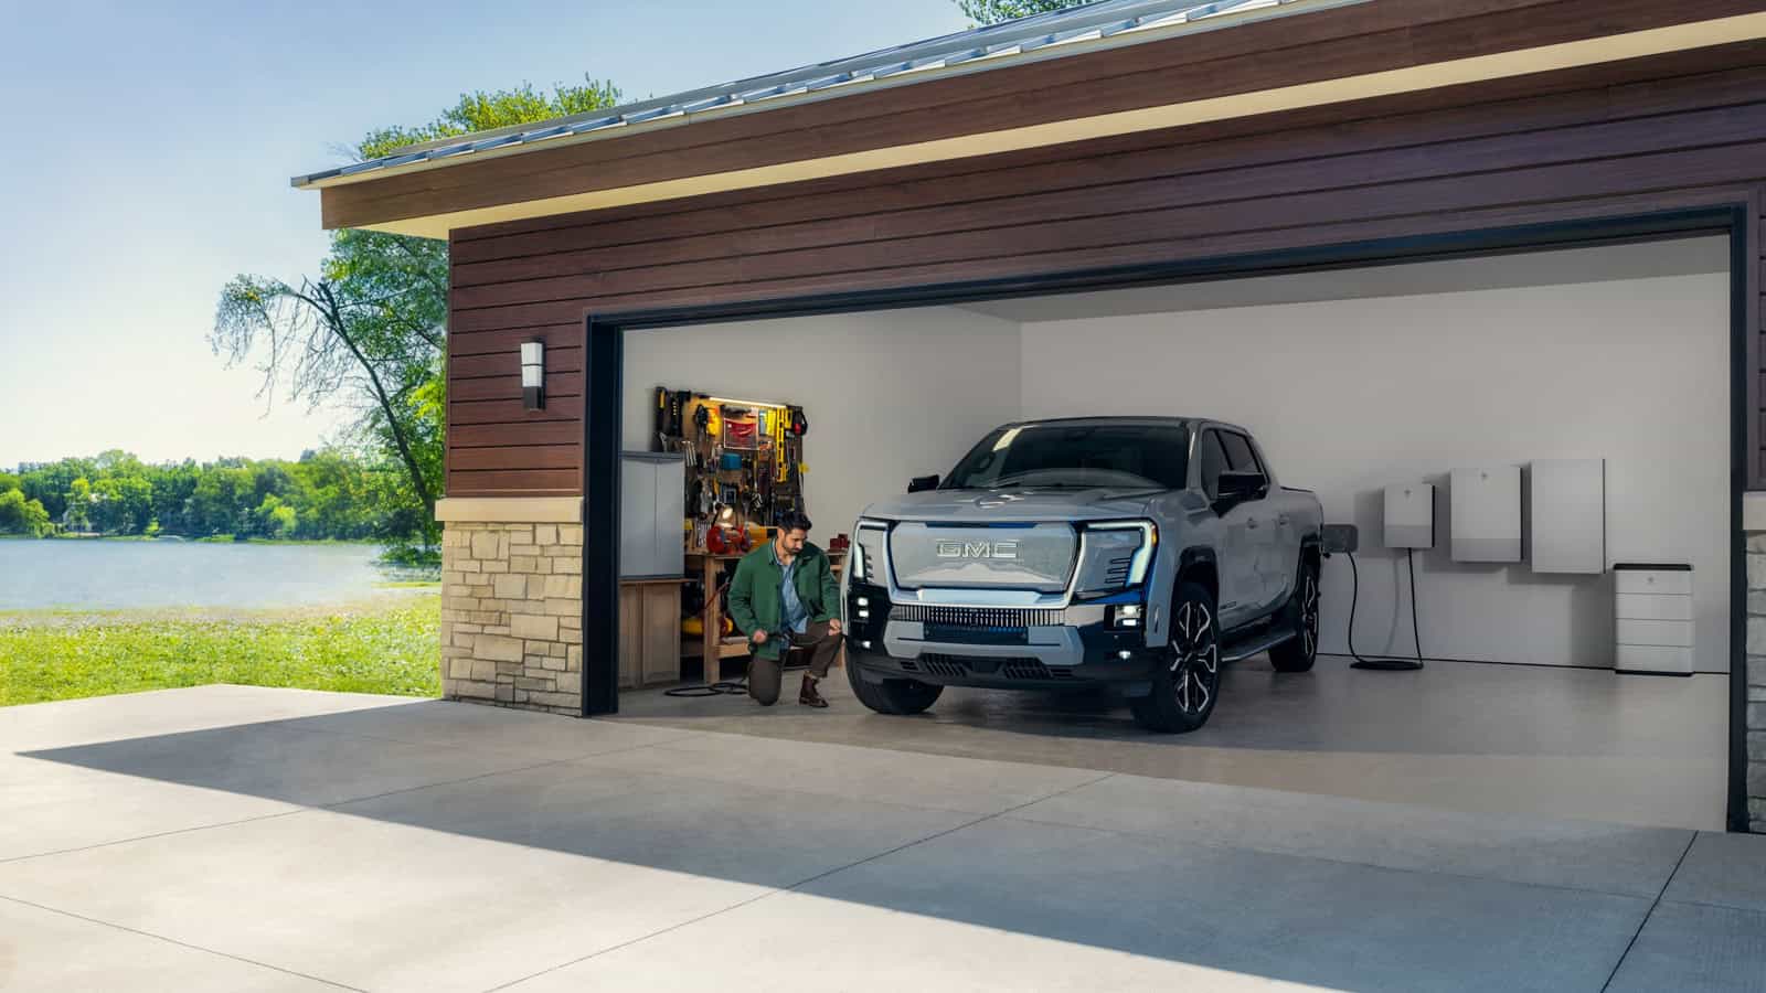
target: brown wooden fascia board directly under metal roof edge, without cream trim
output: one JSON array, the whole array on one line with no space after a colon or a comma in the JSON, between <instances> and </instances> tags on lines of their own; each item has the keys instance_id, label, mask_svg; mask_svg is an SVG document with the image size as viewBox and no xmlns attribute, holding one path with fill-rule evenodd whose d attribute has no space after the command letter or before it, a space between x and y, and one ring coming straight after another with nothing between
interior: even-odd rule
<instances>
[{"instance_id":1,"label":"brown wooden fascia board directly under metal roof edge, without cream trim","mask_svg":"<svg viewBox=\"0 0 1766 993\"><path fill-rule=\"evenodd\" d=\"M327 228L1206 101L1759 12L1757 0L1370 0L327 187Z\"/></svg>"}]
</instances>

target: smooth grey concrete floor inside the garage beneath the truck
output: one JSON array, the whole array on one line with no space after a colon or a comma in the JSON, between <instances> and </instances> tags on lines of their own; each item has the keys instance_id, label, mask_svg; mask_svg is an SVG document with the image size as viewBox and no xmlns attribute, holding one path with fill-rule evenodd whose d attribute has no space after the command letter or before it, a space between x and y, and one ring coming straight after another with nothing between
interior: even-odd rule
<instances>
[{"instance_id":1,"label":"smooth grey concrete floor inside the garage beneath the truck","mask_svg":"<svg viewBox=\"0 0 1766 993\"><path fill-rule=\"evenodd\" d=\"M731 666L733 668L733 666ZM1423 671L1277 673L1229 666L1208 726L1150 735L1104 694L947 689L915 717L883 717L825 684L830 710L743 696L623 693L620 717L655 726L924 754L1098 769L1468 813L1519 813L1724 830L1729 677L1429 663Z\"/></svg>"}]
</instances>

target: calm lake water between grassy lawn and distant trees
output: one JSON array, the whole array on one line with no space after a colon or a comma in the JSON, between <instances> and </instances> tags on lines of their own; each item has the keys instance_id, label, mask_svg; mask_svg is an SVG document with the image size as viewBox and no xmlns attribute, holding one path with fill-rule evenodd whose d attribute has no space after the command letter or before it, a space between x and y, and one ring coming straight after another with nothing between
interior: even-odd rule
<instances>
[{"instance_id":1,"label":"calm lake water between grassy lawn and distant trees","mask_svg":"<svg viewBox=\"0 0 1766 993\"><path fill-rule=\"evenodd\" d=\"M387 580L378 555L371 544L0 541L0 611L339 603Z\"/></svg>"}]
</instances>

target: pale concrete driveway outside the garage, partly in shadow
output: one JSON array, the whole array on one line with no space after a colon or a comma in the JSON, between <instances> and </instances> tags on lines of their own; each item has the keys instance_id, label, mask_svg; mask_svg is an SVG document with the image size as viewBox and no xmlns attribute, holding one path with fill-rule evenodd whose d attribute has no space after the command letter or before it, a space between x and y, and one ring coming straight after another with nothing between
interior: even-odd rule
<instances>
[{"instance_id":1,"label":"pale concrete driveway outside the garage, partly in shadow","mask_svg":"<svg viewBox=\"0 0 1766 993\"><path fill-rule=\"evenodd\" d=\"M1766 989L1766 838L233 686L0 710L0 989Z\"/></svg>"}]
</instances>

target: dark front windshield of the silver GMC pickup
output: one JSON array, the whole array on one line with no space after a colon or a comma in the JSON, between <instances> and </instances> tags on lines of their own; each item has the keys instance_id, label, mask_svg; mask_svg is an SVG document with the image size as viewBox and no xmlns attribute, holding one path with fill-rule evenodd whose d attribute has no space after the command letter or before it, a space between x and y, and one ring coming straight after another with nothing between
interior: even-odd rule
<instances>
[{"instance_id":1,"label":"dark front windshield of the silver GMC pickup","mask_svg":"<svg viewBox=\"0 0 1766 993\"><path fill-rule=\"evenodd\" d=\"M1183 424L1023 424L982 438L943 488L1183 489L1189 451Z\"/></svg>"}]
</instances>

